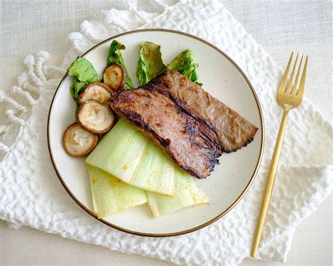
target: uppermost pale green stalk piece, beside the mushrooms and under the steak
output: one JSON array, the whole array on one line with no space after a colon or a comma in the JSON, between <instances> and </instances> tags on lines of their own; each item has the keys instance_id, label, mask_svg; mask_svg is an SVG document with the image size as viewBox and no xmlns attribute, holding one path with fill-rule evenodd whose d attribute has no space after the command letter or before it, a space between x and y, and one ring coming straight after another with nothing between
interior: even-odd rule
<instances>
[{"instance_id":1,"label":"uppermost pale green stalk piece, beside the mushrooms and under the steak","mask_svg":"<svg viewBox=\"0 0 333 266\"><path fill-rule=\"evenodd\" d=\"M129 183L147 144L148 139L142 133L124 119L119 119L85 162Z\"/></svg>"}]
</instances>

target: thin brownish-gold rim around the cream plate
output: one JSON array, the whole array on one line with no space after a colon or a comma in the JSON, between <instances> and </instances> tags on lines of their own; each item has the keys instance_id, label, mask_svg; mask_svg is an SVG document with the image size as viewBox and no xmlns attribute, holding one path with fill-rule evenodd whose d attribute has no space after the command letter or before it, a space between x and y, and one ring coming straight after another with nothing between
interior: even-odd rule
<instances>
[{"instance_id":1,"label":"thin brownish-gold rim around the cream plate","mask_svg":"<svg viewBox=\"0 0 333 266\"><path fill-rule=\"evenodd\" d=\"M74 196L74 194L72 194L72 192L70 191L70 189L67 187L67 185L65 184L65 181L63 180L63 178L61 177L57 166L55 165L55 161L53 158L53 153L52 153L52 149L51 149L51 143L50 143L50 119L51 119L51 112L53 109L53 102L55 101L56 96L58 95L58 91L60 86L63 84L63 81L65 81L66 77L68 76L68 73L65 74L65 76L63 77L63 79L61 79L58 88L55 91L55 94L53 96L52 102L51 102L51 107L50 110L48 111L48 127L47 127L47 141L48 141L48 152L50 153L50 157L51 157L51 161L53 164L53 168L55 169L55 172L58 175L58 178L61 182L61 184L63 184L63 187L65 187L66 191L68 194L70 194L70 197L72 197L72 199L74 199L74 201L79 204L79 206L81 208L84 209L84 211L86 211L87 213L89 213L91 216L93 216L94 218L96 218L97 220L99 220L100 222L105 223L105 225L109 225L110 227L113 227L117 230L120 230L122 232L126 232L129 234L136 234L138 236L142 236L142 237L175 237L175 236L179 236L181 234L188 234L190 232L194 232L196 230L200 230L203 227L206 227L207 225L210 225L211 223L215 222L216 220L218 220L219 218L222 218L224 215L226 215L231 209L233 209L236 204L240 201L240 199L242 199L242 197L244 197L244 195L247 193L247 191L249 190L249 187L251 187L252 182L254 181L254 178L256 176L256 173L259 170L259 166L260 166L260 162L261 162L261 158L263 155L263 142L265 139L265 130L264 130L264 126L263 126L263 114L262 114L262 110L261 110L261 106L259 103L259 99L258 96L256 95L256 92L254 91L254 88L251 84L251 82L249 81L249 79L247 78L247 76L244 74L244 72L242 71L242 69L240 69L240 67L235 63L235 61L233 61L228 55L226 55L226 53L224 53L223 51L221 51L219 48L217 48L216 46L214 46L213 44L210 44L208 41L205 41L204 39L201 39L197 36L185 33L185 32L178 32L176 30L172 30L172 29L137 29L137 30L133 30L131 32L124 32L122 34L118 34L116 36L112 36L108 39L106 39L105 41L100 42L99 44L96 44L96 46L93 46L92 48L90 48L88 51L86 51L86 53L84 53L81 56L87 55L88 53L90 53L91 51L95 50L96 48L98 48L98 46L101 46L102 44L105 44L107 41L111 41L112 39L116 39L119 36L124 36L124 35L128 35L128 34L133 34L136 32L171 32L171 33L176 33L176 34L181 34L181 35L185 35L188 36L192 39L196 39L197 41L201 41L204 44L207 44L208 46L211 46L211 48L214 48L216 51L218 51L219 53L221 53L221 55L223 55L225 58L227 58L237 69L238 71L242 74L242 76L244 77L244 79L247 81L247 84L249 85L249 87L251 88L251 91L254 95L254 98L256 100L256 105L259 109L259 114L260 114L260 120L261 120L261 147L260 147L260 154L258 157L258 161L256 164L256 168L254 169L254 173L252 174L251 179L249 180L249 182L247 183L247 186L245 187L245 189L243 190L243 192L240 194L240 196L233 202L233 204L230 204L230 206L228 208L226 208L225 211L223 211L221 214L217 215L215 218L209 220L208 222L204 222L202 225L199 225L197 227L193 227L190 228L188 230L183 230L180 232L173 232L173 233L167 233L167 234L150 234L150 233L143 233L143 232L136 232L136 231L132 231L132 230L128 230L126 228L123 227L119 227L117 225L112 224L111 222L107 222L107 220L104 220L103 218L98 218L97 215L95 213L93 213L93 211L89 210L89 208L86 208L86 206L84 206L84 204L81 204L81 202L77 199L77 197Z\"/></svg>"}]
</instances>

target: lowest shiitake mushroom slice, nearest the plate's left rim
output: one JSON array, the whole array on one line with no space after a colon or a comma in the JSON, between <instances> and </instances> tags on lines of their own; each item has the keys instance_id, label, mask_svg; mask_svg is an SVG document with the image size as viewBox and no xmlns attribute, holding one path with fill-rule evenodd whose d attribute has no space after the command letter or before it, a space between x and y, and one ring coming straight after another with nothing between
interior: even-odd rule
<instances>
[{"instance_id":1,"label":"lowest shiitake mushroom slice, nearest the plate's left rim","mask_svg":"<svg viewBox=\"0 0 333 266\"><path fill-rule=\"evenodd\" d=\"M98 136L82 128L78 123L67 127L63 135L65 151L71 157L83 157L96 146Z\"/></svg>"}]
</instances>

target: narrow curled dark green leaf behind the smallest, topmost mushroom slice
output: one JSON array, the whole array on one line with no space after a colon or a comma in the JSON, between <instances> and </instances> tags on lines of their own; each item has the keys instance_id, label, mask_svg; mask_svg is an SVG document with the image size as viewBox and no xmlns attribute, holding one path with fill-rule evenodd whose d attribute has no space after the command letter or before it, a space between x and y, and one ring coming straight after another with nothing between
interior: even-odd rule
<instances>
[{"instance_id":1,"label":"narrow curled dark green leaf behind the smallest, topmost mushroom slice","mask_svg":"<svg viewBox=\"0 0 333 266\"><path fill-rule=\"evenodd\" d=\"M117 63L124 67L126 72L126 83L125 88L133 88L133 84L131 78L129 77L129 72L127 72L124 58L122 57L122 50L125 50L124 44L121 42L114 40L110 44L109 52L107 53L107 65L111 65L112 63Z\"/></svg>"}]
</instances>

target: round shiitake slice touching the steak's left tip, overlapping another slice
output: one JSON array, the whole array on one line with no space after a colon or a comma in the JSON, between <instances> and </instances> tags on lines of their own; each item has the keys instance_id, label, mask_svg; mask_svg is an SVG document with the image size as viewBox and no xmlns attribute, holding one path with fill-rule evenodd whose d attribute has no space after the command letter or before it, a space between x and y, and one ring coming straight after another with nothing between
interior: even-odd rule
<instances>
[{"instance_id":1,"label":"round shiitake slice touching the steak's left tip, overlapping another slice","mask_svg":"<svg viewBox=\"0 0 333 266\"><path fill-rule=\"evenodd\" d=\"M98 135L112 128L115 115L107 105L96 100L87 100L80 106L77 121L87 131Z\"/></svg>"}]
</instances>

